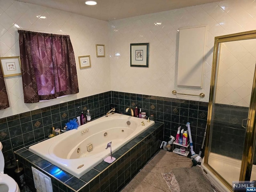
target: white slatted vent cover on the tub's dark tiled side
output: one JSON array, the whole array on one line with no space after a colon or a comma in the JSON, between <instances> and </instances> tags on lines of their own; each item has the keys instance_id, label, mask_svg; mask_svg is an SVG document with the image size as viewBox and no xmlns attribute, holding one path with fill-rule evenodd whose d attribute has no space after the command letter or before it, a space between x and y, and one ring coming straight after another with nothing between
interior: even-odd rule
<instances>
[{"instance_id":1,"label":"white slatted vent cover on the tub's dark tiled side","mask_svg":"<svg viewBox=\"0 0 256 192\"><path fill-rule=\"evenodd\" d=\"M34 167L31 167L31 168L32 168L36 192L53 192L51 178L43 174L42 172L38 171Z\"/></svg>"}]
</instances>

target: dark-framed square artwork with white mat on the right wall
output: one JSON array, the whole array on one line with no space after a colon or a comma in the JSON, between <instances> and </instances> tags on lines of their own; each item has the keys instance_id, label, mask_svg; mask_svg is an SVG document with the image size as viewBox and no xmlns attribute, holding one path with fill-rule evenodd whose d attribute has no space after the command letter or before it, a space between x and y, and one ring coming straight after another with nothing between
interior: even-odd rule
<instances>
[{"instance_id":1,"label":"dark-framed square artwork with white mat on the right wall","mask_svg":"<svg viewBox=\"0 0 256 192\"><path fill-rule=\"evenodd\" d=\"M148 67L149 43L131 43L131 67Z\"/></svg>"}]
</instances>

